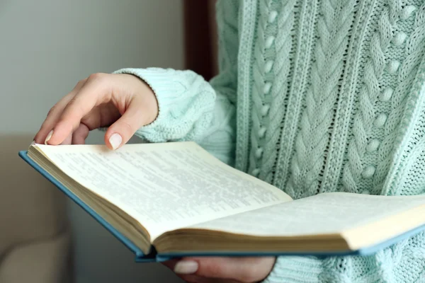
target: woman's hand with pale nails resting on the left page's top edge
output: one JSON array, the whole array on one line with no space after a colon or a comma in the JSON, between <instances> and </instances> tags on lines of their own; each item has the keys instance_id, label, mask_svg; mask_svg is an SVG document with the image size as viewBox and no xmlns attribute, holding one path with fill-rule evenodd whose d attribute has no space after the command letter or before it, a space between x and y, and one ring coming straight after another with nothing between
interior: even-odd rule
<instances>
[{"instance_id":1,"label":"woman's hand with pale nails resting on the left page's top edge","mask_svg":"<svg viewBox=\"0 0 425 283\"><path fill-rule=\"evenodd\" d=\"M157 98L141 79L130 74L92 74L50 109L34 141L84 144L89 131L111 126L105 143L118 149L157 115Z\"/></svg>"}]
</instances>

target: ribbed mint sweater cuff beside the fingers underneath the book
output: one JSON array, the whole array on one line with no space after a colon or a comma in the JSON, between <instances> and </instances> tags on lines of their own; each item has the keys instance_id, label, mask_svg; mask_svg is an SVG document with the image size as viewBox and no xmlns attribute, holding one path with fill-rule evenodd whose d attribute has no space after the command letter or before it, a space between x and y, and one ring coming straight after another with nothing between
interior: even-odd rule
<instances>
[{"instance_id":1,"label":"ribbed mint sweater cuff beside the fingers underneath the book","mask_svg":"<svg viewBox=\"0 0 425 283\"><path fill-rule=\"evenodd\" d=\"M271 273L263 283L319 282L322 261L317 258L282 256L276 258Z\"/></svg>"}]
</instances>

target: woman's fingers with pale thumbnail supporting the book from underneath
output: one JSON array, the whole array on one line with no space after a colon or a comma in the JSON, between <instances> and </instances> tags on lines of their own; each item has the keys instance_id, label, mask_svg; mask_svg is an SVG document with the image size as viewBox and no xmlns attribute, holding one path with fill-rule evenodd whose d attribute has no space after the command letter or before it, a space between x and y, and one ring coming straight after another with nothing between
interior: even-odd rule
<instances>
[{"instance_id":1,"label":"woman's fingers with pale thumbnail supporting the book from underneath","mask_svg":"<svg viewBox=\"0 0 425 283\"><path fill-rule=\"evenodd\" d=\"M276 258L183 258L164 262L186 282L260 282L271 272Z\"/></svg>"}]
</instances>

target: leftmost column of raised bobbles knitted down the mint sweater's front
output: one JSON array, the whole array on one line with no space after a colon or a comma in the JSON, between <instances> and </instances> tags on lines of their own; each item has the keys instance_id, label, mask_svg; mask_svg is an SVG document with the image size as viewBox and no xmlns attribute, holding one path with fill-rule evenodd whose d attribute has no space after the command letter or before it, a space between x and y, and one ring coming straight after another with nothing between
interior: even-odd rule
<instances>
[{"instance_id":1,"label":"leftmost column of raised bobbles knitted down the mint sweater's front","mask_svg":"<svg viewBox=\"0 0 425 283\"><path fill-rule=\"evenodd\" d=\"M285 6L277 16L280 4ZM250 169L254 175L271 183L276 164L276 144L280 138L280 121L285 115L285 97L290 73L289 54L292 48L293 8L295 0L259 3L260 23L253 68L254 87L252 111ZM276 19L278 17L278 19ZM278 59L276 54L279 54ZM281 78L276 80L275 78ZM271 82L274 82L273 84ZM268 129L264 131L267 124ZM259 170L261 168L261 171Z\"/></svg>"}]
</instances>

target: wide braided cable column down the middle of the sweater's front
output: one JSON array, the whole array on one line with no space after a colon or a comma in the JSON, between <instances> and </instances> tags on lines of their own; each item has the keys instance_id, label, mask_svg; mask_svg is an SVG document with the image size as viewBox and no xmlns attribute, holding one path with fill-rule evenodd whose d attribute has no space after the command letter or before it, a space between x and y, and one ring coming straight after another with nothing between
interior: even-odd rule
<instances>
[{"instance_id":1,"label":"wide braided cable column down the middle of the sweater's front","mask_svg":"<svg viewBox=\"0 0 425 283\"><path fill-rule=\"evenodd\" d=\"M324 168L324 151L329 144L334 101L344 70L348 30L353 21L354 0L322 1L322 16L317 23L315 61L307 89L306 108L295 141L295 157L289 185L298 190L296 197L317 193Z\"/></svg>"}]
</instances>

